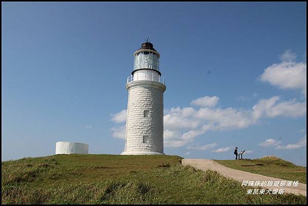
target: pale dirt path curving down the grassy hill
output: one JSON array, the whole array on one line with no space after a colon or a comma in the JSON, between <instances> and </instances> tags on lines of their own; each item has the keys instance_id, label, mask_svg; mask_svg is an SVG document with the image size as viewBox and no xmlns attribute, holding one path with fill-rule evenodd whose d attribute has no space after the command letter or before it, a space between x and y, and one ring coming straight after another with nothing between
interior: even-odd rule
<instances>
[{"instance_id":1,"label":"pale dirt path curving down the grassy hill","mask_svg":"<svg viewBox=\"0 0 308 206\"><path fill-rule=\"evenodd\" d=\"M240 182L247 181L283 181L283 179L275 178L275 177L267 177L263 175L253 174L250 172L244 172L241 170L235 170L231 168L227 168L213 159L182 159L182 164L192 166L196 169L200 170L213 170L218 173L224 175L225 177L229 177ZM285 193L293 193L293 194L301 194L306 196L306 184L298 183L297 187L264 187L266 189L285 189Z\"/></svg>"}]
</instances>

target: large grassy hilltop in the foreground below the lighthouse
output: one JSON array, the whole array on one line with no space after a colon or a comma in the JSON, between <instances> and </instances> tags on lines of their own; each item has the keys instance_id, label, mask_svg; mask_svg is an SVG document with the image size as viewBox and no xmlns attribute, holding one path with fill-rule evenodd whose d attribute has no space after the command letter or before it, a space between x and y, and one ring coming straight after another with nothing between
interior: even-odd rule
<instances>
[{"instance_id":1,"label":"large grassy hilltop in the foreground below the lighthouse","mask_svg":"<svg viewBox=\"0 0 308 206\"><path fill-rule=\"evenodd\" d=\"M179 156L54 155L2 162L3 204L305 204L302 195L246 195Z\"/></svg>"}]
</instances>

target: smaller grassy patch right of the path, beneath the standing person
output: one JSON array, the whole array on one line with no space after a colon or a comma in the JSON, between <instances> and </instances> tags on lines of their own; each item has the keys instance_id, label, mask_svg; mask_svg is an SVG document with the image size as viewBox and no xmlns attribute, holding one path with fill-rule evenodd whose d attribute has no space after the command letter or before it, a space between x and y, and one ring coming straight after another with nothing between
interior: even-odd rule
<instances>
[{"instance_id":1,"label":"smaller grassy patch right of the path, beneath the standing person","mask_svg":"<svg viewBox=\"0 0 308 206\"><path fill-rule=\"evenodd\" d=\"M232 169L306 183L306 168L275 156L260 159L215 160Z\"/></svg>"}]
</instances>

